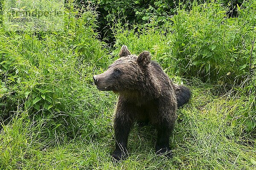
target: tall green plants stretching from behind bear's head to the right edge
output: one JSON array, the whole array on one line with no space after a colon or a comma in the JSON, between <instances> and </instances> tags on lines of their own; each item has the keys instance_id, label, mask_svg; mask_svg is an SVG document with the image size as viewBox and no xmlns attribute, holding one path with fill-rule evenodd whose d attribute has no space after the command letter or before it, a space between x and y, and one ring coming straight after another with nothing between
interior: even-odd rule
<instances>
[{"instance_id":1,"label":"tall green plants stretching from behind bear's head to the right edge","mask_svg":"<svg viewBox=\"0 0 256 170\"><path fill-rule=\"evenodd\" d=\"M228 18L226 8L209 3L195 5L191 11L178 9L172 24L160 28L129 31L120 23L113 29L116 46L127 44L136 51L144 48L153 54L160 52L156 58L164 67L175 66L172 74L218 85L246 86L250 84L248 76L253 74L249 73L250 66L253 69L256 65L255 46L251 55L256 4L245 5L247 8L240 8L237 18Z\"/></svg>"}]
</instances>

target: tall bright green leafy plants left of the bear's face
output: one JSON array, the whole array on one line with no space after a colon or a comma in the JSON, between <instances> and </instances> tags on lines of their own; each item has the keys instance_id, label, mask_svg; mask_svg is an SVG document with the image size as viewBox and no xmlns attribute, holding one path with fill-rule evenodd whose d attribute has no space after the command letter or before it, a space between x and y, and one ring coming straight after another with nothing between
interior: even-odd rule
<instances>
[{"instance_id":1,"label":"tall bright green leafy plants left of the bear's face","mask_svg":"<svg viewBox=\"0 0 256 170\"><path fill-rule=\"evenodd\" d=\"M77 13L71 4L59 32L0 28L1 122L24 112L35 122L44 119L42 134L58 142L94 134L89 118L99 112L99 101L88 86L96 68L108 65L108 56L93 31L96 14L87 10L77 18Z\"/></svg>"}]
</instances>

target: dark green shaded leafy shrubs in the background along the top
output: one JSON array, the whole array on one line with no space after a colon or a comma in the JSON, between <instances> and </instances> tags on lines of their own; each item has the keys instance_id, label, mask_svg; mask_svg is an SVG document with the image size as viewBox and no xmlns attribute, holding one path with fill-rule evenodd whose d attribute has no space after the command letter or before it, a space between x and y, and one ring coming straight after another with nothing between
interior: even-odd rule
<instances>
[{"instance_id":1,"label":"dark green shaded leafy shrubs in the background along the top","mask_svg":"<svg viewBox=\"0 0 256 170\"><path fill-rule=\"evenodd\" d=\"M119 20L128 24L130 28L136 25L139 28L172 22L171 17L177 13L177 8L183 6L190 10L193 3L205 3L204 0L77 0L81 6L95 6L99 12L98 31L101 38L113 45L111 27ZM230 17L237 17L236 6L241 6L243 0L217 0L229 10Z\"/></svg>"}]
</instances>

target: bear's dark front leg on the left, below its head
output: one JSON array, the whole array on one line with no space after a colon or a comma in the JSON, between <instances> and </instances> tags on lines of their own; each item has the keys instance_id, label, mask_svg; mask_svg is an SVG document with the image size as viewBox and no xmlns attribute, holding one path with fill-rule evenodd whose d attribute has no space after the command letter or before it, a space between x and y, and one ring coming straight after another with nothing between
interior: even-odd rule
<instances>
[{"instance_id":1,"label":"bear's dark front leg on the left, below its head","mask_svg":"<svg viewBox=\"0 0 256 170\"><path fill-rule=\"evenodd\" d=\"M117 161L128 157L127 140L131 129L131 119L126 113L116 113L114 119L114 130L116 139L116 149L113 152L113 158Z\"/></svg>"}]
</instances>

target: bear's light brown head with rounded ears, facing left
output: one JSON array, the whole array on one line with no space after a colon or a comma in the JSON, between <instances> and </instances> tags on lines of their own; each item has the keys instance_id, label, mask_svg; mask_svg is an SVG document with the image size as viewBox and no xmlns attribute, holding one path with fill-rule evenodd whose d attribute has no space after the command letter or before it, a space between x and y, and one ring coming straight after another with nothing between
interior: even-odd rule
<instances>
[{"instance_id":1,"label":"bear's light brown head with rounded ears, facing left","mask_svg":"<svg viewBox=\"0 0 256 170\"><path fill-rule=\"evenodd\" d=\"M123 45L119 57L107 71L93 76L95 85L101 91L126 93L140 91L148 82L151 54L143 51L136 56L131 54L126 45Z\"/></svg>"}]
</instances>

